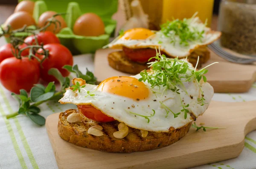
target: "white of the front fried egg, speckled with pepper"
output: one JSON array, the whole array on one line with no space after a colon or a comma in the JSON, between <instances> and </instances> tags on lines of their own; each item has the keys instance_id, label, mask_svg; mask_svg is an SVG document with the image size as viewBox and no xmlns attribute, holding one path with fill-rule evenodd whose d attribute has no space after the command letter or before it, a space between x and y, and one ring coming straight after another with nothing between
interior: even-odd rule
<instances>
[{"instance_id":1,"label":"white of the front fried egg, speckled with pepper","mask_svg":"<svg viewBox=\"0 0 256 169\"><path fill-rule=\"evenodd\" d=\"M141 76L140 74L137 74L133 77L139 79ZM179 87L180 96L171 90L163 91L165 89L163 86L161 86L160 89L158 89L158 87L151 89L149 83L144 83L149 89L148 98L145 100L137 101L108 92L101 92L95 90L97 85L86 84L86 86L81 89L81 92L73 92L72 89L67 89L60 102L64 104L72 103L75 105L90 104L96 109L101 110L105 115L113 117L119 122L123 122L132 128L152 132L169 132L170 128L180 128L187 123L192 122L194 117L196 118L199 115L202 115L207 109L213 96L212 86L209 83L202 82L201 86L206 99L205 102L208 104L205 104L204 106L198 104L197 98L201 97L201 92L195 80L183 83L183 85L186 87L187 93L181 87ZM87 91L94 91L94 96L85 97L87 95ZM153 91L156 93L153 93ZM191 117L191 115L188 113L187 118L184 118L184 112L180 111L182 109L180 99L183 100L183 104L189 104L187 109L194 117ZM169 112L169 115L166 117L166 110L160 104L160 101L163 102L174 113L181 112L180 115L174 118L172 112ZM131 111L140 115L150 116L153 114L152 109L154 109L155 115L153 117L148 117L150 119L149 123L144 117L128 112Z\"/></svg>"}]
</instances>

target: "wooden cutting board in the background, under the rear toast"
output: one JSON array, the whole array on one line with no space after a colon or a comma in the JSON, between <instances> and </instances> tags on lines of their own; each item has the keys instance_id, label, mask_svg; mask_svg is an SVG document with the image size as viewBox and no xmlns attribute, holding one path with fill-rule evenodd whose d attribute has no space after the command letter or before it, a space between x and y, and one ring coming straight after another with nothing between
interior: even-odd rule
<instances>
[{"instance_id":1,"label":"wooden cutting board in the background, under the rear toast","mask_svg":"<svg viewBox=\"0 0 256 169\"><path fill-rule=\"evenodd\" d=\"M111 76L131 76L119 72L108 65L108 54L113 49L99 49L96 51L94 60L94 74L98 81L105 80ZM207 81L213 86L214 92L247 92L256 81L256 65L241 65L230 63L211 51L210 60L203 66L210 63L218 64L208 67Z\"/></svg>"}]
</instances>

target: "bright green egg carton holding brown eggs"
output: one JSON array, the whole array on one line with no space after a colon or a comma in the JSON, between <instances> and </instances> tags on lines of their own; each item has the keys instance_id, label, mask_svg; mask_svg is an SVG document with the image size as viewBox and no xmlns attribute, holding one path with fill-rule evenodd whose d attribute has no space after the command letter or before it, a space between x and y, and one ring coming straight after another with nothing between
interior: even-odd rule
<instances>
[{"instance_id":1,"label":"bright green egg carton holding brown eggs","mask_svg":"<svg viewBox=\"0 0 256 169\"><path fill-rule=\"evenodd\" d=\"M76 0L76 2L70 2L70 0L38 0L35 1L33 17L37 23L38 18L45 11L66 12L67 14L63 17L67 27L56 34L61 44L70 49L73 54L93 53L109 43L109 37L113 35L116 28L116 20L112 20L111 17L116 13L117 6L118 0ZM98 37L85 37L73 33L73 26L77 18L88 12L93 12L101 17L105 24L105 34ZM25 36L25 34L17 34L17 36ZM6 39L6 41L9 40Z\"/></svg>"}]
</instances>

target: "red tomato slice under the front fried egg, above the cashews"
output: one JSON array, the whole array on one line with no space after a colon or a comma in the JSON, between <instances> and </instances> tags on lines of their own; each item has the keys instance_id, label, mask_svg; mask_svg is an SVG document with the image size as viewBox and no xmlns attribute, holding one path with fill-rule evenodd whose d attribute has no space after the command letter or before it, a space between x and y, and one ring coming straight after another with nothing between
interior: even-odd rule
<instances>
[{"instance_id":1,"label":"red tomato slice under the front fried egg, above the cashews","mask_svg":"<svg viewBox=\"0 0 256 169\"><path fill-rule=\"evenodd\" d=\"M100 110L91 105L77 105L79 111L87 118L98 122L111 122L115 119L103 114Z\"/></svg>"}]
</instances>

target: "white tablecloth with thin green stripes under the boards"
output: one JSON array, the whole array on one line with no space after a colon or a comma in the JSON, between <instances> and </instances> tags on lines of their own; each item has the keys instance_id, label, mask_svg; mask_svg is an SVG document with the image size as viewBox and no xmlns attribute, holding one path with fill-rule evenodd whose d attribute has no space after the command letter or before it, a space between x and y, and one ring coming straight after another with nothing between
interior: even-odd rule
<instances>
[{"instance_id":1,"label":"white tablecloth with thin green stripes under the boards","mask_svg":"<svg viewBox=\"0 0 256 169\"><path fill-rule=\"evenodd\" d=\"M93 71L92 55L75 57L82 72ZM247 93L218 94L213 100L242 102L256 99L256 83ZM72 105L48 102L40 106L41 115L47 117L70 109ZM17 111L18 105L10 92L0 85L0 169L56 169L58 168L45 126L38 126L28 117L19 115L6 120L5 115ZM252 110L256 111L256 109ZM114 165L114 164L113 164ZM86 168L86 166L84 166ZM193 169L256 169L256 131L245 139L244 150L238 158L212 163Z\"/></svg>"}]
</instances>

